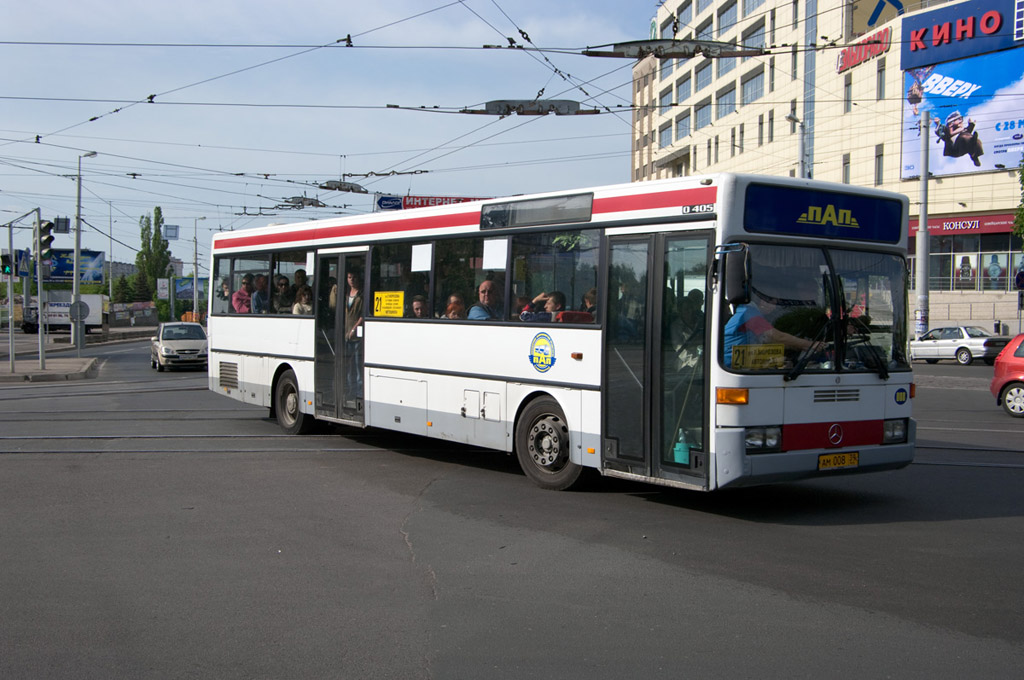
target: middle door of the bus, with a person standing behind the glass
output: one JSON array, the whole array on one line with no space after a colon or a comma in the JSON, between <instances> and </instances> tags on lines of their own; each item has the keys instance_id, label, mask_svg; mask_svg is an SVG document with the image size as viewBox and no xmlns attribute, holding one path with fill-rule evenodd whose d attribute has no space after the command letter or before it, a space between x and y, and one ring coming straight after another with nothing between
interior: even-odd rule
<instances>
[{"instance_id":1,"label":"middle door of the bus, with a person standing behind the glass","mask_svg":"<svg viewBox=\"0 0 1024 680\"><path fill-rule=\"evenodd\" d=\"M347 281L352 274L361 289L366 259L364 253L343 253L319 255L316 261L316 415L358 425L364 423L362 296L350 299ZM360 327L348 333L352 329L346 326L356 321Z\"/></svg>"}]
</instances>

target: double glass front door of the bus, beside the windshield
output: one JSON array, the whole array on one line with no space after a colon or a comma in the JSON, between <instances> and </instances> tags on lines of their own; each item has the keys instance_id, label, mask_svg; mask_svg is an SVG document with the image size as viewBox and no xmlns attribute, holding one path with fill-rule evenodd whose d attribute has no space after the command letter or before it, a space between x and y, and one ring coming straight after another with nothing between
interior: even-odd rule
<instances>
[{"instance_id":1,"label":"double glass front door of the bus, beside the windshield","mask_svg":"<svg viewBox=\"0 0 1024 680\"><path fill-rule=\"evenodd\" d=\"M707 486L707 231L609 241L606 469Z\"/></svg>"}]
</instances>

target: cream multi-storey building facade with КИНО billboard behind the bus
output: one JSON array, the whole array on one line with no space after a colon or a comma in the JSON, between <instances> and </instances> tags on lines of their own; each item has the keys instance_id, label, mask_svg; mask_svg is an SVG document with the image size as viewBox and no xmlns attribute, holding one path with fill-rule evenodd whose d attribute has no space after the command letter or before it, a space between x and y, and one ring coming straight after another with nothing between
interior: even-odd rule
<instances>
[{"instance_id":1,"label":"cream multi-storey building facade with \u041a\u0418\u041d\u041e billboard behind the bus","mask_svg":"<svg viewBox=\"0 0 1024 680\"><path fill-rule=\"evenodd\" d=\"M898 4L668 0L652 38L765 53L640 61L633 179L754 172L898 192L915 267L925 139L929 325L1016 332L1024 0Z\"/></svg>"}]
</instances>

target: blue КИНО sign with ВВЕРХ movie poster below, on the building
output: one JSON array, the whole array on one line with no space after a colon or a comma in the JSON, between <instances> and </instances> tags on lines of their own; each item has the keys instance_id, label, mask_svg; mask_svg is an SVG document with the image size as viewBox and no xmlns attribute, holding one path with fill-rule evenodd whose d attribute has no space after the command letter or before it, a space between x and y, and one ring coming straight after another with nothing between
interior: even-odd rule
<instances>
[{"instance_id":1,"label":"blue \u041a\u0418\u041d\u041e sign with \u0412\u0412\u0415\u0420\u0425 movie poster below, on the building","mask_svg":"<svg viewBox=\"0 0 1024 680\"><path fill-rule=\"evenodd\" d=\"M1020 163L1024 26L1014 12L1014 0L972 0L903 19L901 179L921 176L923 141L936 177Z\"/></svg>"}]
</instances>

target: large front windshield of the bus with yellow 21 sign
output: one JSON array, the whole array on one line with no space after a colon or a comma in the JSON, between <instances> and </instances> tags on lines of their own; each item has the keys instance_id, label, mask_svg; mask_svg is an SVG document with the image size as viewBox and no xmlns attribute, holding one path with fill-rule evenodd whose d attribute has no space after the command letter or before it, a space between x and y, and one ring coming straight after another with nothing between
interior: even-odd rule
<instances>
[{"instance_id":1,"label":"large front windshield of the bus with yellow 21 sign","mask_svg":"<svg viewBox=\"0 0 1024 680\"><path fill-rule=\"evenodd\" d=\"M738 372L908 371L906 265L887 253L752 244L750 301L726 306L722 363Z\"/></svg>"}]
</instances>

